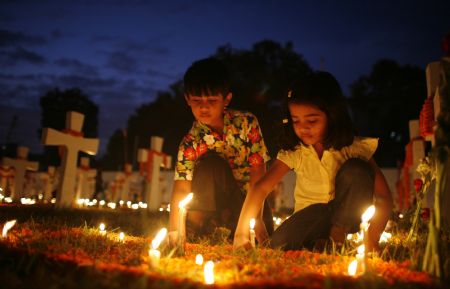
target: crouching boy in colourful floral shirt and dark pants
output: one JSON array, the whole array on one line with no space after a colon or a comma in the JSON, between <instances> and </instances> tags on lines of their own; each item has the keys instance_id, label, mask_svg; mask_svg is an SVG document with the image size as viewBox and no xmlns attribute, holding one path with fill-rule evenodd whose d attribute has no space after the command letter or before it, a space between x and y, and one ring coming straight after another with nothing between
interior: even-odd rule
<instances>
[{"instance_id":1,"label":"crouching boy in colourful floral shirt and dark pants","mask_svg":"<svg viewBox=\"0 0 450 289\"><path fill-rule=\"evenodd\" d=\"M195 121L179 146L169 238L171 243L176 240L178 203L191 191L188 232L202 236L226 227L232 237L245 194L264 174L269 160L258 120L251 113L226 109L232 98L230 75L217 59L202 59L189 67L184 94ZM271 233L273 221L267 206L264 217Z\"/></svg>"}]
</instances>

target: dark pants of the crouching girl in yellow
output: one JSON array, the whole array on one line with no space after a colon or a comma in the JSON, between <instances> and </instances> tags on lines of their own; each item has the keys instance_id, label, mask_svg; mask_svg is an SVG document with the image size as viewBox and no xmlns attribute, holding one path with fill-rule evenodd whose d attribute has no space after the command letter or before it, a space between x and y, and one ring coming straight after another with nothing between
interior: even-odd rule
<instances>
[{"instance_id":1,"label":"dark pants of the crouching girl in yellow","mask_svg":"<svg viewBox=\"0 0 450 289\"><path fill-rule=\"evenodd\" d=\"M313 204L293 214L273 233L271 246L284 250L312 249L318 239L328 239L331 226L348 233L358 230L361 215L373 204L375 173L370 164L352 158L336 174L335 198Z\"/></svg>"}]
</instances>

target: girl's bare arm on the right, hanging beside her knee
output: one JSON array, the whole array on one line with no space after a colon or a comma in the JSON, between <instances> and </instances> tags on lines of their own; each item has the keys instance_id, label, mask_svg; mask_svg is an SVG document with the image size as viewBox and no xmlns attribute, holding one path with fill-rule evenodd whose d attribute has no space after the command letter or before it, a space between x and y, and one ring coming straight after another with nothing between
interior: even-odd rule
<instances>
[{"instance_id":1,"label":"girl's bare arm on the right, hanging beside her knee","mask_svg":"<svg viewBox=\"0 0 450 289\"><path fill-rule=\"evenodd\" d=\"M391 216L393 207L392 194L383 173L373 159L370 160L370 163L375 170L375 215L370 221L368 251L378 250L378 241Z\"/></svg>"}]
</instances>

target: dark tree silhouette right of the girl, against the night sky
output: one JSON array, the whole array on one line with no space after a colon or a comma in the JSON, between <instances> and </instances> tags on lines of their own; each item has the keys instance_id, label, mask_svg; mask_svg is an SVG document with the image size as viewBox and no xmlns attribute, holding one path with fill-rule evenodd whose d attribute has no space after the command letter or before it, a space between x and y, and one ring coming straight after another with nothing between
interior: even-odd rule
<instances>
[{"instance_id":1,"label":"dark tree silhouette right of the girl, against the night sky","mask_svg":"<svg viewBox=\"0 0 450 289\"><path fill-rule=\"evenodd\" d=\"M379 137L375 160L395 167L409 142L408 122L417 119L426 95L425 72L419 67L377 61L368 76L351 85L349 99L360 135Z\"/></svg>"}]
</instances>

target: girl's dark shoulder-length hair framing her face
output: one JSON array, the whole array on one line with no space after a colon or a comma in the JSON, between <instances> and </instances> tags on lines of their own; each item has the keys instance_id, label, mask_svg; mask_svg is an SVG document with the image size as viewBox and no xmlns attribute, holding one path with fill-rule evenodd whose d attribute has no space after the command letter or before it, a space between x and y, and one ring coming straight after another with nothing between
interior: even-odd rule
<instances>
[{"instance_id":1,"label":"girl's dark shoulder-length hair framing her face","mask_svg":"<svg viewBox=\"0 0 450 289\"><path fill-rule=\"evenodd\" d=\"M310 73L298 79L286 93L286 119L279 140L279 146L284 150L294 150L301 140L295 134L292 119L289 114L290 103L308 104L319 108L327 116L327 132L324 140L325 149L340 150L350 145L356 135L348 111L347 102L342 94L339 83L328 72Z\"/></svg>"}]
</instances>

